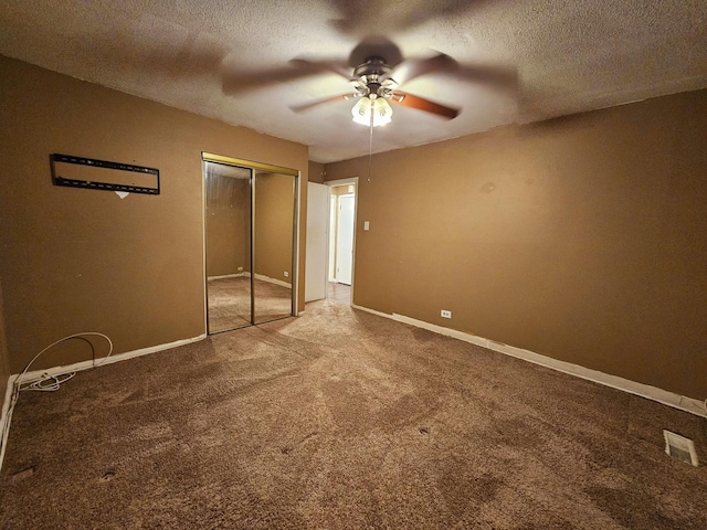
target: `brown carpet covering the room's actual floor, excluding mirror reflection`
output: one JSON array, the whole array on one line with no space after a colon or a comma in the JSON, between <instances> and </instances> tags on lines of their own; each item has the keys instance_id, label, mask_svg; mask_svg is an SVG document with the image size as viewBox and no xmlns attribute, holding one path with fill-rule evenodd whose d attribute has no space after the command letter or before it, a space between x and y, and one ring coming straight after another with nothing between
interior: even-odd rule
<instances>
[{"instance_id":1,"label":"brown carpet covering the room's actual floor, excluding mirror reflection","mask_svg":"<svg viewBox=\"0 0 707 530\"><path fill-rule=\"evenodd\" d=\"M23 393L0 526L707 528L706 420L341 304Z\"/></svg>"}]
</instances>

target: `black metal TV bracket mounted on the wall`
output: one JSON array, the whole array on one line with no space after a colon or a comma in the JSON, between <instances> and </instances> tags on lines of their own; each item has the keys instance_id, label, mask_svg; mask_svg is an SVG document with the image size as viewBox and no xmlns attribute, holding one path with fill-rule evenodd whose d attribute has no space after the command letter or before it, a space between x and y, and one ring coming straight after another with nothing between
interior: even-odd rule
<instances>
[{"instance_id":1,"label":"black metal TV bracket mounted on the wall","mask_svg":"<svg viewBox=\"0 0 707 530\"><path fill-rule=\"evenodd\" d=\"M159 169L59 153L50 163L54 186L159 195Z\"/></svg>"}]
</instances>

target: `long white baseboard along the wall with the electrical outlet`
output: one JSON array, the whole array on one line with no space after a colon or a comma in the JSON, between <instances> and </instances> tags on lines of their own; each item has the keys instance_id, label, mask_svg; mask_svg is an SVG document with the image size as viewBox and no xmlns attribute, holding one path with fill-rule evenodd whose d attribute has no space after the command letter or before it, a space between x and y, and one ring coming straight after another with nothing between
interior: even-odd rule
<instances>
[{"instance_id":1,"label":"long white baseboard along the wall with the electrical outlet","mask_svg":"<svg viewBox=\"0 0 707 530\"><path fill-rule=\"evenodd\" d=\"M641 398L657 401L658 403L663 403L664 405L668 405L674 409L679 409L680 411L707 417L707 407L705 403L694 398L687 398L685 395L676 394L675 392L669 392L656 386L651 386L650 384L639 383L636 381L631 381L630 379L619 378L616 375L611 375L598 370L584 368L579 364L572 364L571 362L560 361L551 357L535 353L529 350L524 350L523 348L516 348L515 346L496 342L494 340L485 339L476 335L465 333L456 329L445 328L443 326L425 322L423 320L416 320L414 318L405 317L404 315L398 315L395 312L389 315L386 312L369 309L367 307L355 305L351 305L351 307L366 312L378 315L380 317L390 318L398 322L408 324L416 328L423 328L429 331L434 331L435 333L453 337L455 339L463 340L464 342L471 342L476 346L482 346L499 353L505 353L507 356L523 359L535 364L540 364L541 367L550 368L563 373L569 373L570 375L585 379L588 381L593 381L595 383L603 384L604 386L611 386L612 389L621 390L634 395L640 395Z\"/></svg>"}]
</instances>

